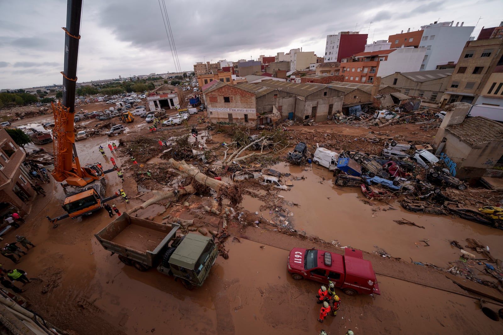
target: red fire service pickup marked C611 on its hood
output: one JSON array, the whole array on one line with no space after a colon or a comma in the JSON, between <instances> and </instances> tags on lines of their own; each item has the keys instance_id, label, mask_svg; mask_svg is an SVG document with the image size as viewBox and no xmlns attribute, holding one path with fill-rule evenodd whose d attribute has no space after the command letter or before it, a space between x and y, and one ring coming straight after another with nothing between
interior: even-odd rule
<instances>
[{"instance_id":1,"label":"red fire service pickup marked C611 on its hood","mask_svg":"<svg viewBox=\"0 0 503 335\"><path fill-rule=\"evenodd\" d=\"M288 256L292 278L328 283L348 295L381 294L372 263L363 259L361 250L346 248L345 255L315 249L293 248Z\"/></svg>"}]
</instances>

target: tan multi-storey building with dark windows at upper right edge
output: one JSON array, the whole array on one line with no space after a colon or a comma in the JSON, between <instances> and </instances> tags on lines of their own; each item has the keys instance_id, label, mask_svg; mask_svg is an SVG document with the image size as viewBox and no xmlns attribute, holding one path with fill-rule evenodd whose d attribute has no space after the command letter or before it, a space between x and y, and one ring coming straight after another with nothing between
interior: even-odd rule
<instances>
[{"instance_id":1,"label":"tan multi-storey building with dark windows at upper right edge","mask_svg":"<svg viewBox=\"0 0 503 335\"><path fill-rule=\"evenodd\" d=\"M503 39L468 41L454 68L447 90L446 103L475 103L496 66L503 65Z\"/></svg>"}]
</instances>

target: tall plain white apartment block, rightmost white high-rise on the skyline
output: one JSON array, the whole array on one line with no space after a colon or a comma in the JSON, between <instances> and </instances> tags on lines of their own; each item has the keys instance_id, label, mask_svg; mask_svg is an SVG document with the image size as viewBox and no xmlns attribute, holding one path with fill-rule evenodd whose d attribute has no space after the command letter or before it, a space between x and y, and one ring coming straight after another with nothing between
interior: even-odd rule
<instances>
[{"instance_id":1,"label":"tall plain white apartment block, rightmost white high-rise on the skyline","mask_svg":"<svg viewBox=\"0 0 503 335\"><path fill-rule=\"evenodd\" d=\"M433 23L421 26L423 37L419 44L420 48L426 49L425 58L420 71L435 70L437 65L457 62L465 43L473 40L470 37L475 27L463 26L459 22L453 26L452 22Z\"/></svg>"}]
</instances>

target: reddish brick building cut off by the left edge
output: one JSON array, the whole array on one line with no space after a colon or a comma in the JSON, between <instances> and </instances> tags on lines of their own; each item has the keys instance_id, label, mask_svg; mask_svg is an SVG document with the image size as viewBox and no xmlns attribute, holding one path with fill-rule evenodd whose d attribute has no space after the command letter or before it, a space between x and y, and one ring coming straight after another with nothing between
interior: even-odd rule
<instances>
[{"instance_id":1,"label":"reddish brick building cut off by the left edge","mask_svg":"<svg viewBox=\"0 0 503 335\"><path fill-rule=\"evenodd\" d=\"M0 128L0 214L7 210L28 211L26 202L35 194L31 177L22 165L25 152ZM14 207L14 208L13 208Z\"/></svg>"}]
</instances>

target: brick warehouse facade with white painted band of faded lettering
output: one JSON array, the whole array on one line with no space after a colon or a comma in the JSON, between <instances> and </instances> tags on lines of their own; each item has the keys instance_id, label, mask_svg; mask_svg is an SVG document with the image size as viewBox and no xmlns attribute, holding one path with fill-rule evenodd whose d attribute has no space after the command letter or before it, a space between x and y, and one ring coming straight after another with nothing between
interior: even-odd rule
<instances>
[{"instance_id":1,"label":"brick warehouse facade with white painted band of faded lettering","mask_svg":"<svg viewBox=\"0 0 503 335\"><path fill-rule=\"evenodd\" d=\"M230 122L257 125L257 99L254 92L219 80L202 87L206 109L212 123ZM272 106L271 106L272 108Z\"/></svg>"}]
</instances>

